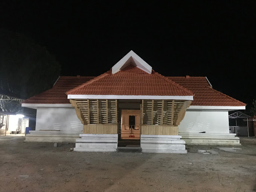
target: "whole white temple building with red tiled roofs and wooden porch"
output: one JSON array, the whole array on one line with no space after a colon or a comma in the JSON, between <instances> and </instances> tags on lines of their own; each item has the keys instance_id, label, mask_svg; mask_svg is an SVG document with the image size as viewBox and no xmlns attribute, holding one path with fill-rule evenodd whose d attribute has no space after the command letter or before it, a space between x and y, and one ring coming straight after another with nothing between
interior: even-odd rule
<instances>
[{"instance_id":1,"label":"whole white temple building with red tiled roofs and wooden porch","mask_svg":"<svg viewBox=\"0 0 256 192\"><path fill-rule=\"evenodd\" d=\"M143 152L169 153L186 153L185 143L241 145L229 133L229 111L245 105L214 90L206 77L160 75L133 51L102 75L59 77L52 89L22 103L37 109L27 142L116 151L128 137L140 139Z\"/></svg>"}]
</instances>

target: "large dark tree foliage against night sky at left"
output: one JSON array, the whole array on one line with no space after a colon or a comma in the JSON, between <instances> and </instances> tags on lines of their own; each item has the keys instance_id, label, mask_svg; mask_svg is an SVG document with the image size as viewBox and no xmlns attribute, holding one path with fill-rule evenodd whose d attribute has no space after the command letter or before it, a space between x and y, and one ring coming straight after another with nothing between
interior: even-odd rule
<instances>
[{"instance_id":1,"label":"large dark tree foliage against night sky at left","mask_svg":"<svg viewBox=\"0 0 256 192\"><path fill-rule=\"evenodd\" d=\"M0 92L26 99L52 87L61 67L46 47L0 29Z\"/></svg>"}]
</instances>

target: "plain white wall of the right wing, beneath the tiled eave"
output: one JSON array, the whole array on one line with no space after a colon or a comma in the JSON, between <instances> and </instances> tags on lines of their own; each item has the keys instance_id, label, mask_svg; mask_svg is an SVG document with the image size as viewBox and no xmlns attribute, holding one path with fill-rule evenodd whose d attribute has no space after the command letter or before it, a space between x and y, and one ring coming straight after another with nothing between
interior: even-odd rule
<instances>
[{"instance_id":1,"label":"plain white wall of the right wing, beneath the tiled eave","mask_svg":"<svg viewBox=\"0 0 256 192\"><path fill-rule=\"evenodd\" d=\"M229 133L229 112L187 109L178 129L180 133Z\"/></svg>"}]
</instances>

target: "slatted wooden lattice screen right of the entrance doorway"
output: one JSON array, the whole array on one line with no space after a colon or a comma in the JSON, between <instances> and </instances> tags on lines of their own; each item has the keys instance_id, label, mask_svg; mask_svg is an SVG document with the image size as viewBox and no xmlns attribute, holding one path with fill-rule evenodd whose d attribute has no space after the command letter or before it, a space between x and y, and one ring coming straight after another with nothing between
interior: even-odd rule
<instances>
[{"instance_id":1,"label":"slatted wooden lattice screen right of the entrance doorway","mask_svg":"<svg viewBox=\"0 0 256 192\"><path fill-rule=\"evenodd\" d=\"M142 100L143 125L178 125L191 101Z\"/></svg>"}]
</instances>

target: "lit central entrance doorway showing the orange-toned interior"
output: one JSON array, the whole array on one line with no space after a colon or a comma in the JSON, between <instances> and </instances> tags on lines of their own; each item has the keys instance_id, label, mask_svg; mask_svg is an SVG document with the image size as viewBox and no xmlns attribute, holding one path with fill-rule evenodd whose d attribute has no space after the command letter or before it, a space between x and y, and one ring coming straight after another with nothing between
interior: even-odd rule
<instances>
[{"instance_id":1,"label":"lit central entrance doorway showing the orange-toned interior","mask_svg":"<svg viewBox=\"0 0 256 192\"><path fill-rule=\"evenodd\" d=\"M121 110L122 140L140 139L140 110Z\"/></svg>"}]
</instances>

